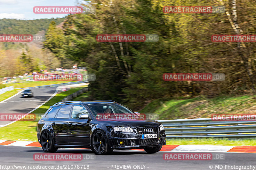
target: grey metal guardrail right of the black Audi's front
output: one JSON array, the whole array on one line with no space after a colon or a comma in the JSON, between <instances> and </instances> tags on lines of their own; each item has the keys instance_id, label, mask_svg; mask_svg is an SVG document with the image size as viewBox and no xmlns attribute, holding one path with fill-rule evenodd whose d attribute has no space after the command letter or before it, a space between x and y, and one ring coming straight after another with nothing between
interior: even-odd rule
<instances>
[{"instance_id":1,"label":"grey metal guardrail right of the black Audi's front","mask_svg":"<svg viewBox=\"0 0 256 170\"><path fill-rule=\"evenodd\" d=\"M230 117L229 117L230 118ZM255 138L256 121L216 121L212 118L160 120L167 138Z\"/></svg>"}]
</instances>

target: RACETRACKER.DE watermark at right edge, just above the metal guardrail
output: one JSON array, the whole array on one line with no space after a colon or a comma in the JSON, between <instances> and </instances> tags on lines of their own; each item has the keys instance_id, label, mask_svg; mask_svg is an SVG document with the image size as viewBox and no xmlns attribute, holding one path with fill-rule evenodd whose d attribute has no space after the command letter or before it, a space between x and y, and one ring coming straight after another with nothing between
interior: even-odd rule
<instances>
[{"instance_id":1,"label":"RACETRACKER.DE watermark at right edge, just above the metal guardrail","mask_svg":"<svg viewBox=\"0 0 256 170\"><path fill-rule=\"evenodd\" d=\"M255 114L212 114L212 121L255 121Z\"/></svg>"}]
</instances>

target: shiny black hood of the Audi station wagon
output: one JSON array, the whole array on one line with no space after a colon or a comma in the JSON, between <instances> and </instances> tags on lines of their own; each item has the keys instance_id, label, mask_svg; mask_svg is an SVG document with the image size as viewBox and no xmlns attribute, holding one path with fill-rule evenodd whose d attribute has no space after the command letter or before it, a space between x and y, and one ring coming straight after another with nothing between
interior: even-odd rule
<instances>
[{"instance_id":1,"label":"shiny black hood of the Audi station wagon","mask_svg":"<svg viewBox=\"0 0 256 170\"><path fill-rule=\"evenodd\" d=\"M128 126L131 128L136 128L138 126L159 126L161 123L154 121L154 120L135 120L135 121L131 121L131 120L104 120L104 121L100 121L97 120L99 122L106 122L106 124L111 124L111 125L116 125L116 126Z\"/></svg>"}]
</instances>

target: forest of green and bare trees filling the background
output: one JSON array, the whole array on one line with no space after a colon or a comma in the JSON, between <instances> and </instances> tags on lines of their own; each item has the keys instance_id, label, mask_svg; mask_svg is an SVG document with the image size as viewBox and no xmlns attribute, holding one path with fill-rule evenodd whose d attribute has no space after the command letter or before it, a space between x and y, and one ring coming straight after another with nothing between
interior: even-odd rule
<instances>
[{"instance_id":1,"label":"forest of green and bare trees filling the background","mask_svg":"<svg viewBox=\"0 0 256 170\"><path fill-rule=\"evenodd\" d=\"M6 54L15 53L19 56L16 59L22 63L20 56L31 55L35 63L29 66L31 71L57 65L65 68L72 63L78 64L78 67L86 66L90 73L96 74L96 80L90 84L92 99L116 100L128 103L132 108L142 107L154 99L166 100L182 95L212 98L255 94L255 42L211 40L212 35L216 34L255 34L255 1L86 2L79 5L89 9L89 12L70 14L62 18L61 23L60 18L51 20L49 25L45 20L33 20L36 24L31 29L22 27L31 34L46 31L42 49L26 48L26 44L21 44L23 51L17 52L14 48L4 48L2 43L0 60L4 61L4 53L6 57ZM163 12L164 6L174 5L224 6L225 11ZM0 20L2 22L1 33L13 33L8 30L12 24L16 24L16 27L12 26L13 30L22 26L17 25L21 22L18 20ZM159 39L157 42L98 42L96 37L99 34L157 34ZM9 50L8 53L6 50ZM38 55L43 57L38 58ZM0 63L1 76L22 72L10 70L3 73L5 66L4 62ZM224 73L226 78L224 81L164 81L164 73Z\"/></svg>"}]
</instances>

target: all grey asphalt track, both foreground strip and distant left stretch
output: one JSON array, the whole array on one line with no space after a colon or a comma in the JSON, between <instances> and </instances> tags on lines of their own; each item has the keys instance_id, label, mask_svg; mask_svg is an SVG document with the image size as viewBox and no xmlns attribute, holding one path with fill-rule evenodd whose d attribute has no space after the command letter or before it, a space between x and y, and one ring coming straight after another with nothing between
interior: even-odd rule
<instances>
[{"instance_id":1,"label":"all grey asphalt track, both foreground strip and distant left stretch","mask_svg":"<svg viewBox=\"0 0 256 170\"><path fill-rule=\"evenodd\" d=\"M0 113L28 113L29 111L33 110L35 107L49 99L56 91L56 87L34 88L32 90L35 95L32 98L21 98L20 94L18 94L10 100L6 100L3 103L0 103ZM0 126L7 123L9 122L0 121ZM222 155L224 154L225 159L221 160L164 160L163 155L165 153L171 153L165 151L154 154L147 154L144 151L114 150L114 152L109 155L95 155L94 152L89 149L59 149L56 153L82 154L83 159L80 161L39 161L34 160L34 154L48 154L43 152L42 148L40 147L0 145L0 170L234 170L239 169L239 167L242 166L252 167L247 169L254 169L253 166L256 167L255 153L212 153ZM77 165L80 165L79 168L77 168ZM28 166L34 167L29 168ZM41 168L38 168L36 166L40 166ZM44 168L42 168L42 166L44 166ZM49 168L45 168L46 166L48 166ZM242 169L245 168L241 168L240 170Z\"/></svg>"}]
</instances>

